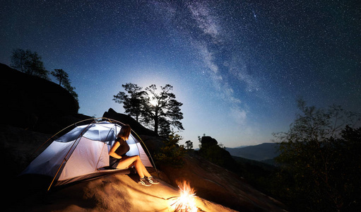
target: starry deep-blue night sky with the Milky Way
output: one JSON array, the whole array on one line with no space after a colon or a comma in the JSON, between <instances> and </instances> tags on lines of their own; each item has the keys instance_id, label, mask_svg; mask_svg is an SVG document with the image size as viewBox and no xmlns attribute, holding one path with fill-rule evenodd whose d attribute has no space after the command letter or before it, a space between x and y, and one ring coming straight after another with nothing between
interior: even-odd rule
<instances>
[{"instance_id":1,"label":"starry deep-blue night sky with the Milky Way","mask_svg":"<svg viewBox=\"0 0 361 212\"><path fill-rule=\"evenodd\" d=\"M96 117L124 112L122 84L169 83L184 141L237 147L288 131L299 97L361 112L360 20L357 1L3 0L0 62L37 52Z\"/></svg>"}]
</instances>

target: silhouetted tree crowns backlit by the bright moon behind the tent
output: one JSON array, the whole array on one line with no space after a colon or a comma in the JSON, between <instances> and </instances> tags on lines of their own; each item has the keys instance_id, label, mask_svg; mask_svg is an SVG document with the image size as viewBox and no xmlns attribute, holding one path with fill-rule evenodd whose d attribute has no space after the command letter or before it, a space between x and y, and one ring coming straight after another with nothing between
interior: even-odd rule
<instances>
[{"instance_id":1,"label":"silhouetted tree crowns backlit by the bright moon behind the tent","mask_svg":"<svg viewBox=\"0 0 361 212\"><path fill-rule=\"evenodd\" d=\"M155 85L148 86L146 90L133 83L122 85L129 95L119 92L114 95L114 101L123 104L126 114L136 117L138 122L151 125L160 136L168 136L170 126L184 130L179 120L183 119L180 107L183 105L175 99L170 85L160 86L160 93Z\"/></svg>"}]
</instances>

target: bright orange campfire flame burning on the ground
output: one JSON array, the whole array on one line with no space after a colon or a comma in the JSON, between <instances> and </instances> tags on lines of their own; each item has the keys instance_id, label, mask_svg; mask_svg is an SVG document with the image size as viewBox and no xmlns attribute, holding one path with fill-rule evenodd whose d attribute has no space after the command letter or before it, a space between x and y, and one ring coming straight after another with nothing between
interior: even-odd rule
<instances>
[{"instance_id":1,"label":"bright orange campfire flame burning on the ground","mask_svg":"<svg viewBox=\"0 0 361 212\"><path fill-rule=\"evenodd\" d=\"M180 189L180 196L177 197L172 204L174 212L198 211L198 208L196 207L196 200L194 199L194 196L196 195L194 189L191 188L187 181L179 182L177 184Z\"/></svg>"}]
</instances>

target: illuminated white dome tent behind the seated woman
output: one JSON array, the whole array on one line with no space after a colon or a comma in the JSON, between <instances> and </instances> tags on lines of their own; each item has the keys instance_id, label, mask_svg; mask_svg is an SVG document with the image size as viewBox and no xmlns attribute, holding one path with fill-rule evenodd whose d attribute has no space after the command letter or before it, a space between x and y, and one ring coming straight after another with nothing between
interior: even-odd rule
<instances>
[{"instance_id":1,"label":"illuminated white dome tent behind the seated woman","mask_svg":"<svg viewBox=\"0 0 361 212\"><path fill-rule=\"evenodd\" d=\"M112 121L92 122L81 126L71 125L75 128L53 141L45 151L32 160L22 175L52 177L50 189L52 185L68 184L119 171L109 167L108 153L124 124L115 123L116 121L112 123ZM136 134L132 131L129 140L126 141L130 147L126 155L139 155L144 166L153 167L139 143L141 139L136 139L134 135Z\"/></svg>"}]
</instances>

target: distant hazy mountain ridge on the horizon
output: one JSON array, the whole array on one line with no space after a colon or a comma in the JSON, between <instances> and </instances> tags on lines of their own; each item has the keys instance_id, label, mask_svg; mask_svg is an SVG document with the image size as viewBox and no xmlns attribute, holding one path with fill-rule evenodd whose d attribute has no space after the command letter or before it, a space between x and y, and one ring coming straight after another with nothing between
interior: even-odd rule
<instances>
[{"instance_id":1,"label":"distant hazy mountain ridge on the horizon","mask_svg":"<svg viewBox=\"0 0 361 212\"><path fill-rule=\"evenodd\" d=\"M231 155L247 158L250 160L270 160L276 158L278 153L278 143L261 143L256 146L245 146L241 148L225 148Z\"/></svg>"}]
</instances>

